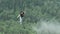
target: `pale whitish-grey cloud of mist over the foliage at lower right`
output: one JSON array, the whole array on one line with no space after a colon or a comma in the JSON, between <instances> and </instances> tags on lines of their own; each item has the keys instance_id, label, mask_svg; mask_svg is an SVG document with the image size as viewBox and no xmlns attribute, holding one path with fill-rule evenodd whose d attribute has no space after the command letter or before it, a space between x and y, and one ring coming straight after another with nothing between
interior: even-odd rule
<instances>
[{"instance_id":1,"label":"pale whitish-grey cloud of mist over the foliage at lower right","mask_svg":"<svg viewBox=\"0 0 60 34\"><path fill-rule=\"evenodd\" d=\"M60 34L60 23L56 20L39 21L32 28L37 34Z\"/></svg>"}]
</instances>

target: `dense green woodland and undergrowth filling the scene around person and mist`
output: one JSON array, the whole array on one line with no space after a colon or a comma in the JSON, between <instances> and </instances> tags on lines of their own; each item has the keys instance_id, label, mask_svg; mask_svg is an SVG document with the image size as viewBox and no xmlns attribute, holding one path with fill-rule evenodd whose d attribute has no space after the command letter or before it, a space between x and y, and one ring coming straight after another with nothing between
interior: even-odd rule
<instances>
[{"instance_id":1,"label":"dense green woodland and undergrowth filling the scene around person and mist","mask_svg":"<svg viewBox=\"0 0 60 34\"><path fill-rule=\"evenodd\" d=\"M19 12L25 12L19 24ZM0 0L0 34L36 34L32 26L39 21L60 22L60 0Z\"/></svg>"}]
</instances>

